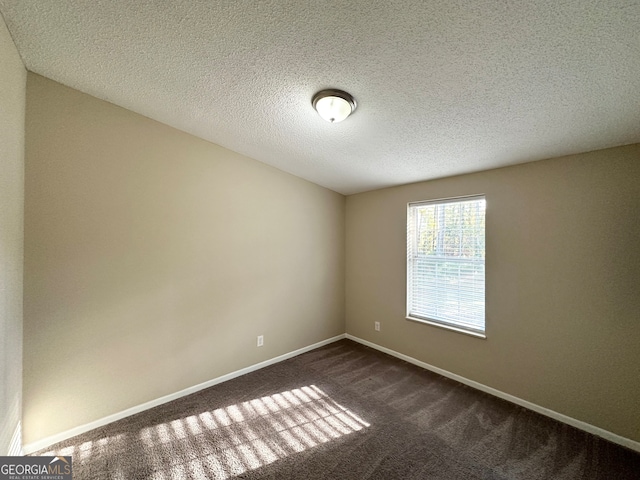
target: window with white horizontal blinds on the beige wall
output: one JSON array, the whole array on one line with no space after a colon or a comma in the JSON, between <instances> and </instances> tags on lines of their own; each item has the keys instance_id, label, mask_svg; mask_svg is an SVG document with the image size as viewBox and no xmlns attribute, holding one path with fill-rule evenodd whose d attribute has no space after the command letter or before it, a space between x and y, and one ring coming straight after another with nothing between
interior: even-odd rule
<instances>
[{"instance_id":1,"label":"window with white horizontal blinds on the beige wall","mask_svg":"<svg viewBox=\"0 0 640 480\"><path fill-rule=\"evenodd\" d=\"M407 206L407 318L484 337L484 196Z\"/></svg>"}]
</instances>

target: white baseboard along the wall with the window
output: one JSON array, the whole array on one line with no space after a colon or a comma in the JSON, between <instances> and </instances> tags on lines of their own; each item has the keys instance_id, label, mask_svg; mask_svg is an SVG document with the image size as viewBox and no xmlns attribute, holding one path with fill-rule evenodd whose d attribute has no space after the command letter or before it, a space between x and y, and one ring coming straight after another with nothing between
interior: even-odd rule
<instances>
[{"instance_id":1,"label":"white baseboard along the wall with the window","mask_svg":"<svg viewBox=\"0 0 640 480\"><path fill-rule=\"evenodd\" d=\"M515 397L508 393L502 392L500 390L496 390L495 388L488 387L487 385L476 382L474 380L469 380L468 378L462 377L460 375L456 375L455 373L451 373L447 370L443 370L442 368L434 367L433 365L422 362L418 359L415 359L403 353L396 352L395 350L391 350L390 348L386 348L376 343L369 342L368 340L363 340L362 338L350 335L348 333L345 334L345 338L348 338L349 340L353 340L354 342L361 343L362 345L366 345L367 347L374 348L376 350L379 350L383 353L399 358L406 362L412 363L413 365L417 365L418 367L422 367L426 370L430 370L439 375L442 375L443 377L447 377L457 382L463 383L465 385L468 385L469 387L475 388L476 390L480 390L482 392L488 393L495 397L502 398L503 400L506 400L508 402L515 403L516 405L520 405L521 407L524 407L528 410L532 410L536 413L540 413L547 417L553 418L554 420L558 420L559 422L566 423L567 425L571 425L572 427L578 428L587 433L591 433L598 437L604 438L605 440L609 440L610 442L616 443L618 445L622 445L623 447L629 448L631 450L635 450L636 452L640 452L640 442L636 442L635 440L631 440L630 438L620 436L608 430L604 430L600 427L596 427L595 425L591 425L590 423L586 423L581 420L576 420L575 418L569 417L562 413L558 413L554 410L541 407L540 405L536 405L535 403L528 402L526 400Z\"/></svg>"}]
</instances>

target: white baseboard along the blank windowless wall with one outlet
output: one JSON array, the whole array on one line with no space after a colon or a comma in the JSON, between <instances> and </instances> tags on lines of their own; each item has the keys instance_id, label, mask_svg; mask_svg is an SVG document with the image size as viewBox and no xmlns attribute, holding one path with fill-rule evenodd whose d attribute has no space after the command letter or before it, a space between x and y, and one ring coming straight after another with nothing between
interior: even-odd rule
<instances>
[{"instance_id":1,"label":"white baseboard along the blank windowless wall with one outlet","mask_svg":"<svg viewBox=\"0 0 640 480\"><path fill-rule=\"evenodd\" d=\"M94 420L93 422L89 422L87 424L80 425L78 427L74 427L64 432L57 433L55 435L51 435L41 440L37 440L35 442L31 442L26 445L23 445L22 451L24 452L25 455L28 455L33 452L37 452L38 450L47 448L55 443L62 442L63 440L66 440L68 438L75 437L76 435L80 435L82 433L88 432L89 430L102 427L109 423L113 423L117 420L121 420L131 415L135 415L136 413L144 412L145 410L149 410L150 408L157 407L158 405L162 405L164 403L168 403L173 400L177 400L178 398L184 397L186 395L190 395L192 393L196 393L200 390L204 390L205 388L213 387L214 385L218 385L219 383L226 382L228 380L234 379L241 375L246 375L247 373L255 372L256 370L260 370L261 368L268 367L269 365L274 365L276 363L282 362L283 360L288 360L289 358L295 357L302 353L309 352L311 350L315 350L316 348L323 347L330 343L337 342L338 340L342 340L343 338L346 338L346 334L344 333L341 335L337 335L335 337L328 338L326 340L322 340L321 342L314 343L313 345L308 345L306 347L299 348L298 350L294 350L293 352L285 353L283 355L271 358L269 360L265 360L264 362L256 363L255 365L241 368L240 370L236 370L235 372L227 373L226 375L222 375L221 377L217 377L212 380L208 380L204 383L194 385L193 387L185 388L184 390L180 390L179 392L165 395L163 397L157 398L155 400L151 400L149 402L142 403L135 407L127 408L126 410L122 410L121 412L108 415L98 420Z\"/></svg>"}]
</instances>

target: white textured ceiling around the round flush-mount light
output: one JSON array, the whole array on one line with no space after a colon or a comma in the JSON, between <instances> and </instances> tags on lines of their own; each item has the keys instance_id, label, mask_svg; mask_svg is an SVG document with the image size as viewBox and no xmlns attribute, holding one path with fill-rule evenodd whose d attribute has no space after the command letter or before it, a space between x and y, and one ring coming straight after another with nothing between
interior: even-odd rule
<instances>
[{"instance_id":1,"label":"white textured ceiling around the round flush-mount light","mask_svg":"<svg viewBox=\"0 0 640 480\"><path fill-rule=\"evenodd\" d=\"M0 0L27 68L350 194L640 142L640 0ZM311 107L353 94L332 125Z\"/></svg>"}]
</instances>

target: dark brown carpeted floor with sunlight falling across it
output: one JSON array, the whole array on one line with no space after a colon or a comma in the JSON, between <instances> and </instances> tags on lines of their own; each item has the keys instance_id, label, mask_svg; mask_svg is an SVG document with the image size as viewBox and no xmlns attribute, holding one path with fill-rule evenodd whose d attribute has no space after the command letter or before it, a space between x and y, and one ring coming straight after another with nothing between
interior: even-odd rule
<instances>
[{"instance_id":1,"label":"dark brown carpeted floor with sunlight falling across it","mask_svg":"<svg viewBox=\"0 0 640 480\"><path fill-rule=\"evenodd\" d=\"M640 479L640 454L349 340L54 445L74 479Z\"/></svg>"}]
</instances>

